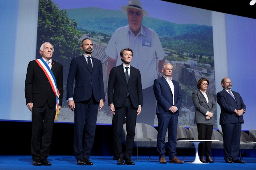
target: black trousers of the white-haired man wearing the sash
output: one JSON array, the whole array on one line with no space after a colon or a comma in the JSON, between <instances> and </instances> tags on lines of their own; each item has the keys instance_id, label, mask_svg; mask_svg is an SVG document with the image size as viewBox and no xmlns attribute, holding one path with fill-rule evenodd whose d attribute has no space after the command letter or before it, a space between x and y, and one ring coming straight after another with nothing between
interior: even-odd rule
<instances>
[{"instance_id":1,"label":"black trousers of the white-haired man wearing the sash","mask_svg":"<svg viewBox=\"0 0 256 170\"><path fill-rule=\"evenodd\" d=\"M55 108L50 108L47 101L42 107L32 108L31 154L33 160L49 156L55 112Z\"/></svg>"}]
</instances>

